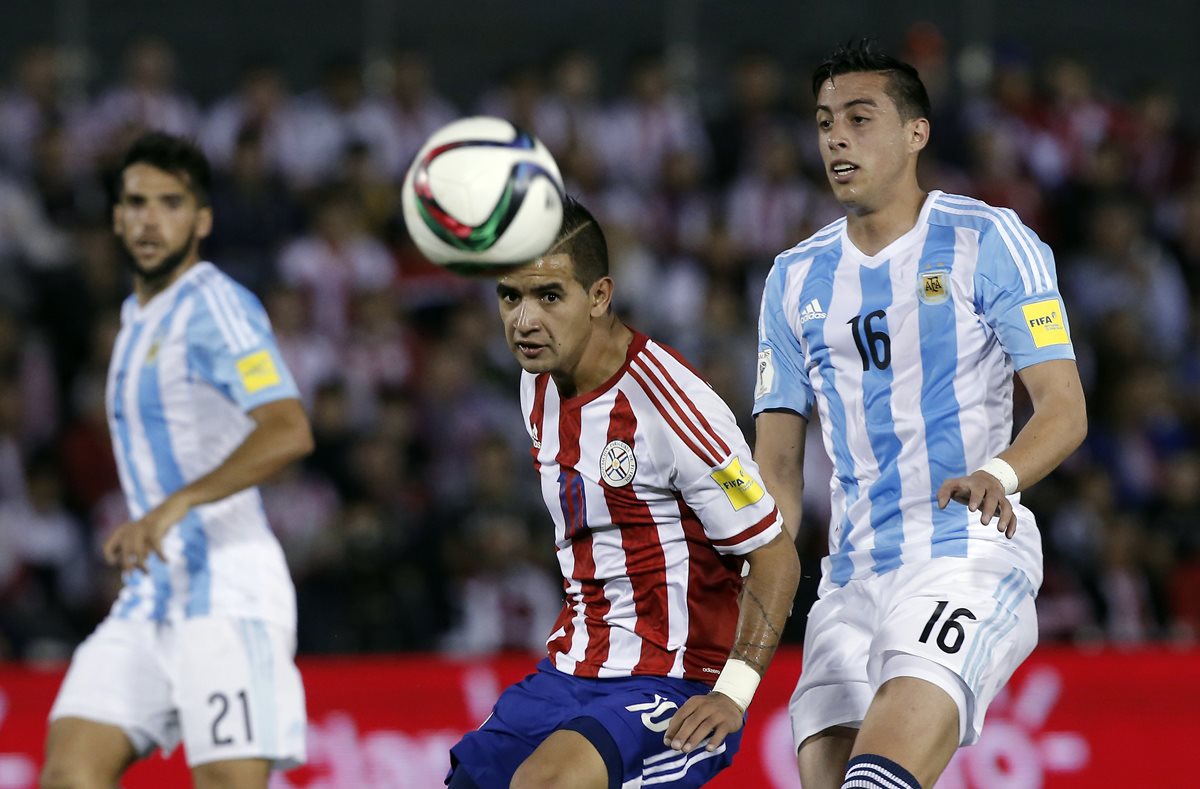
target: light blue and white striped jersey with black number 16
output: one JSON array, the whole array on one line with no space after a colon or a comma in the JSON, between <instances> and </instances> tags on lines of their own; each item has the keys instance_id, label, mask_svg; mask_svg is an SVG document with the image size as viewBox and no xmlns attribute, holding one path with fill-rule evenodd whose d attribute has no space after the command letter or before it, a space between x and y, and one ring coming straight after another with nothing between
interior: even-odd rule
<instances>
[{"instance_id":1,"label":"light blue and white striped jersey with black number 16","mask_svg":"<svg viewBox=\"0 0 1200 789\"><path fill-rule=\"evenodd\" d=\"M931 192L875 255L839 219L775 258L755 414L817 405L833 462L822 589L937 556L1001 556L1042 582L1033 514L1016 536L937 489L1003 451L1013 372L1074 359L1054 255L1007 209Z\"/></svg>"}]
</instances>

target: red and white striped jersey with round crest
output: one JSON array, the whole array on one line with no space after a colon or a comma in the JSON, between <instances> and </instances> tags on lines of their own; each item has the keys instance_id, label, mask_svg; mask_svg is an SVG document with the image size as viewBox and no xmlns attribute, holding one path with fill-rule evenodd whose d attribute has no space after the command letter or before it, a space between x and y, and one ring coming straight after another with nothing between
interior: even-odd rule
<instances>
[{"instance_id":1,"label":"red and white striped jersey with round crest","mask_svg":"<svg viewBox=\"0 0 1200 789\"><path fill-rule=\"evenodd\" d=\"M576 676L715 681L739 556L782 528L728 406L635 332L595 391L564 400L548 374L523 373L521 408L566 591L550 659Z\"/></svg>"}]
</instances>

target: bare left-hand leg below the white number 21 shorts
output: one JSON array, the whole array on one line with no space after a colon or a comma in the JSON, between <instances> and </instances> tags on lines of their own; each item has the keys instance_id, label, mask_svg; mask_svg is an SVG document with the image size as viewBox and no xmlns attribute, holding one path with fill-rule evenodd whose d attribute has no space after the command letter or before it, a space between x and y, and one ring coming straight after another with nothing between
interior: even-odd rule
<instances>
[{"instance_id":1,"label":"bare left-hand leg below the white number 21 shorts","mask_svg":"<svg viewBox=\"0 0 1200 789\"><path fill-rule=\"evenodd\" d=\"M133 743L119 727L84 718L62 717L50 723L46 736L42 789L115 787L121 773L138 758Z\"/></svg>"}]
</instances>

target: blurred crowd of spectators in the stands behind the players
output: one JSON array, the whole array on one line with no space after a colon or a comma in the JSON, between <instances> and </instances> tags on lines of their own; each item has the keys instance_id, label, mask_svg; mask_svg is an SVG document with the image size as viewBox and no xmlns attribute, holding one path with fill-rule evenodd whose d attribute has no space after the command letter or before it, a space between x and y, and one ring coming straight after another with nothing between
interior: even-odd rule
<instances>
[{"instance_id":1,"label":"blurred crowd of spectators in the stands behind the players","mask_svg":"<svg viewBox=\"0 0 1200 789\"><path fill-rule=\"evenodd\" d=\"M1046 555L1043 643L1194 640L1198 130L1168 88L1112 95L1080 60L997 47L967 89L935 29L896 54L934 102L923 185L1014 209L1056 254L1091 432L1024 495ZM763 279L841 215L816 147L815 64L761 52L689 90L662 53L606 73L566 49L481 74L470 103L444 98L415 50L370 80L354 58L330 61L317 85L250 64L209 106L176 86L193 66L161 40L83 94L61 65L31 46L0 85L0 658L68 656L119 588L98 550L126 518L103 403L130 289L109 189L145 128L209 153L205 257L266 305L312 418L316 452L263 489L306 654L538 651L562 603L494 293L431 266L404 233L400 182L428 133L488 114L538 134L605 227L628 321L683 351L751 442ZM1020 423L1019 386L1016 403ZM796 643L827 544L818 440L806 464Z\"/></svg>"}]
</instances>

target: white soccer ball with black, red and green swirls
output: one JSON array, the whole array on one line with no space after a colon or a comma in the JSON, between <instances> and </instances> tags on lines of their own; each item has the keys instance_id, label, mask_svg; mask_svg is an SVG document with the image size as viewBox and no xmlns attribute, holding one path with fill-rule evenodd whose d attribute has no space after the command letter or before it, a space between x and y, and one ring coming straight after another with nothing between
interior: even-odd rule
<instances>
[{"instance_id":1,"label":"white soccer ball with black, red and green swirls","mask_svg":"<svg viewBox=\"0 0 1200 789\"><path fill-rule=\"evenodd\" d=\"M528 263L563 223L563 176L533 134L499 118L466 118L434 132L401 192L421 253L460 272Z\"/></svg>"}]
</instances>

